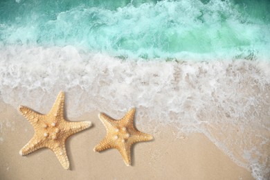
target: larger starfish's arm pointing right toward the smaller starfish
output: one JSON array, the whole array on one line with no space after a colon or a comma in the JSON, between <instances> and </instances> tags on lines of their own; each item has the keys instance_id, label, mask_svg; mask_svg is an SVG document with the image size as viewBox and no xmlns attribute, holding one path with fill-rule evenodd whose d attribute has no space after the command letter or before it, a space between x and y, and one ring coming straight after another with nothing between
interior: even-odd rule
<instances>
[{"instance_id":1,"label":"larger starfish's arm pointing right toward the smaller starfish","mask_svg":"<svg viewBox=\"0 0 270 180\"><path fill-rule=\"evenodd\" d=\"M68 122L68 127L66 129L66 137L69 137L77 132L81 132L84 129L91 127L92 123L90 121L80 121L80 122Z\"/></svg>"}]
</instances>

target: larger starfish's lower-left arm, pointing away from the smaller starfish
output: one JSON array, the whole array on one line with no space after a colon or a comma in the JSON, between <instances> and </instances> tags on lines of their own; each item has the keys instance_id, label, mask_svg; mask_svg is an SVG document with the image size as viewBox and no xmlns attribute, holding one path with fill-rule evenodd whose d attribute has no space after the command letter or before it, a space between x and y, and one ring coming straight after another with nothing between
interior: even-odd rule
<instances>
[{"instance_id":1,"label":"larger starfish's lower-left arm, pointing away from the smaller starfish","mask_svg":"<svg viewBox=\"0 0 270 180\"><path fill-rule=\"evenodd\" d=\"M21 154L21 156L26 156L27 154L35 152L36 150L39 150L43 147L44 144L42 143L42 141L40 141L36 136L34 136L23 148L21 148L19 154Z\"/></svg>"}]
</instances>

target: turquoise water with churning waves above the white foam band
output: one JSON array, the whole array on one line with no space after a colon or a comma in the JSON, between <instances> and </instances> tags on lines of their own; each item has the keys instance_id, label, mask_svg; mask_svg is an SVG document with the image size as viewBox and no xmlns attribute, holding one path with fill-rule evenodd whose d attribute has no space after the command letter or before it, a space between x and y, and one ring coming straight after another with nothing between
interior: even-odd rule
<instances>
[{"instance_id":1,"label":"turquoise water with churning waves above the white foam band","mask_svg":"<svg viewBox=\"0 0 270 180\"><path fill-rule=\"evenodd\" d=\"M75 46L121 58L269 59L269 1L0 2L0 44Z\"/></svg>"}]
</instances>

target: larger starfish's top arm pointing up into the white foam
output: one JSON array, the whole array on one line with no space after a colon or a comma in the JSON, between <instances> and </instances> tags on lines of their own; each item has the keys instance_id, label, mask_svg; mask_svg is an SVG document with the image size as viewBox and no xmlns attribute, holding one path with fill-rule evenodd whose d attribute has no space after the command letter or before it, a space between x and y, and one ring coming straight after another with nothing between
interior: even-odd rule
<instances>
[{"instance_id":1,"label":"larger starfish's top arm pointing up into the white foam","mask_svg":"<svg viewBox=\"0 0 270 180\"><path fill-rule=\"evenodd\" d=\"M52 116L64 118L64 91L60 91L58 94L51 111L48 113Z\"/></svg>"}]
</instances>

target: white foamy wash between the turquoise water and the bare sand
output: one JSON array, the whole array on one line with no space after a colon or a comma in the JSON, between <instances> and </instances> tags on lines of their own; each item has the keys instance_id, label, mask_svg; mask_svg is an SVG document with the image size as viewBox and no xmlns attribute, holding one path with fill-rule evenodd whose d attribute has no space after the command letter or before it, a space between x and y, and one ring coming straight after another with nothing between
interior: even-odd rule
<instances>
[{"instance_id":1,"label":"white foamy wash between the turquoise water and the bare sand","mask_svg":"<svg viewBox=\"0 0 270 180\"><path fill-rule=\"evenodd\" d=\"M1 99L14 107L46 113L60 90L68 117L120 118L137 107L145 129L201 132L255 178L270 173L269 60L120 60L74 46L5 46L0 55Z\"/></svg>"}]
</instances>

